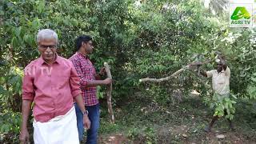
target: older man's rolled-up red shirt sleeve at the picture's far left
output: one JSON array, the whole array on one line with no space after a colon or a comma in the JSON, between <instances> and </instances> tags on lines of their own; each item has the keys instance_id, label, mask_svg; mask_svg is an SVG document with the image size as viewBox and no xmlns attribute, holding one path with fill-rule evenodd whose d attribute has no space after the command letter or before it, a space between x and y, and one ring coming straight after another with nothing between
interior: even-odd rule
<instances>
[{"instance_id":1,"label":"older man's rolled-up red shirt sleeve at the picture's far left","mask_svg":"<svg viewBox=\"0 0 256 144\"><path fill-rule=\"evenodd\" d=\"M32 69L26 67L24 70L24 77L22 79L22 99L23 100L34 100L34 81L31 76Z\"/></svg>"}]
</instances>

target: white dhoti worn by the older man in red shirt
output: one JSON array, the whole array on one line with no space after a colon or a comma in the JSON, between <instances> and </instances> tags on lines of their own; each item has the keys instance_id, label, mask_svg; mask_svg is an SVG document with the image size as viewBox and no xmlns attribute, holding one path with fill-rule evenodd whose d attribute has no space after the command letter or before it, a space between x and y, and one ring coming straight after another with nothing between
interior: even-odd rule
<instances>
[{"instance_id":1,"label":"white dhoti worn by the older man in red shirt","mask_svg":"<svg viewBox=\"0 0 256 144\"><path fill-rule=\"evenodd\" d=\"M35 144L79 144L74 106L49 122L33 122Z\"/></svg>"}]
</instances>

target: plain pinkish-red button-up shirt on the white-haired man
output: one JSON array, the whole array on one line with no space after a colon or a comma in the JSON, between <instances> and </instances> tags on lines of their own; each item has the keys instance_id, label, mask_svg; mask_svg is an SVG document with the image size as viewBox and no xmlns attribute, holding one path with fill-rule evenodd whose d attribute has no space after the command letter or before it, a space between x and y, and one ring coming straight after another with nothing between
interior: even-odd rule
<instances>
[{"instance_id":1,"label":"plain pinkish-red button-up shirt on the white-haired man","mask_svg":"<svg viewBox=\"0 0 256 144\"><path fill-rule=\"evenodd\" d=\"M33 115L37 122L66 114L78 94L81 94L78 74L68 59L57 55L56 61L49 65L41 57L26 66L22 99L34 101Z\"/></svg>"}]
</instances>

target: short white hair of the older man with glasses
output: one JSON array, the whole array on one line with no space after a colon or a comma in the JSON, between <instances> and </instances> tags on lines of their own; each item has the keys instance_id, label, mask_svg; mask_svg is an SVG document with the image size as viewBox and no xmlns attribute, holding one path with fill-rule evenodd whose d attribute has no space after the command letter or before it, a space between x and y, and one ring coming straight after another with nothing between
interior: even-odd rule
<instances>
[{"instance_id":1,"label":"short white hair of the older man with glasses","mask_svg":"<svg viewBox=\"0 0 256 144\"><path fill-rule=\"evenodd\" d=\"M56 42L58 43L58 35L54 30L50 29L42 29L39 30L38 35L37 35L37 42L40 42L45 39L52 39L54 38Z\"/></svg>"}]
</instances>

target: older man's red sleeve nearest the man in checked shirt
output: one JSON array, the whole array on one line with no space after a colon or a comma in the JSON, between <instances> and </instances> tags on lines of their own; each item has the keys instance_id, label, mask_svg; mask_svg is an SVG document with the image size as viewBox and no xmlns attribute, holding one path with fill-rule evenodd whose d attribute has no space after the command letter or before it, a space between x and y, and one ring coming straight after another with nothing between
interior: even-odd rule
<instances>
[{"instance_id":1,"label":"older man's red sleeve nearest the man in checked shirt","mask_svg":"<svg viewBox=\"0 0 256 144\"><path fill-rule=\"evenodd\" d=\"M82 94L82 91L79 86L78 73L72 63L70 66L71 66L70 89L71 89L71 94L72 94L73 98L75 98L76 96L78 96L78 94Z\"/></svg>"}]
</instances>

